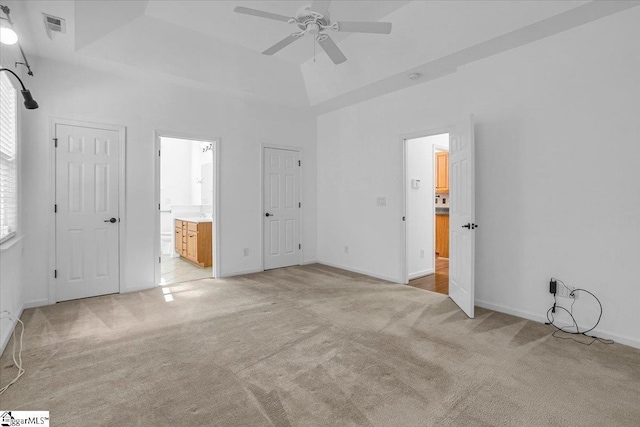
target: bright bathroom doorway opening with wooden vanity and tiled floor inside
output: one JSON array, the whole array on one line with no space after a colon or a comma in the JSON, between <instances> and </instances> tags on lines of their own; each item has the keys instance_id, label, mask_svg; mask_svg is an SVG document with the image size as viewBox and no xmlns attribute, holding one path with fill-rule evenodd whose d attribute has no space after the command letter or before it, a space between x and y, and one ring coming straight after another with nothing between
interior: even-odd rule
<instances>
[{"instance_id":1,"label":"bright bathroom doorway opening with wooden vanity and tiled floor inside","mask_svg":"<svg viewBox=\"0 0 640 427\"><path fill-rule=\"evenodd\" d=\"M217 140L162 133L156 145L156 283L218 277Z\"/></svg>"}]
</instances>

